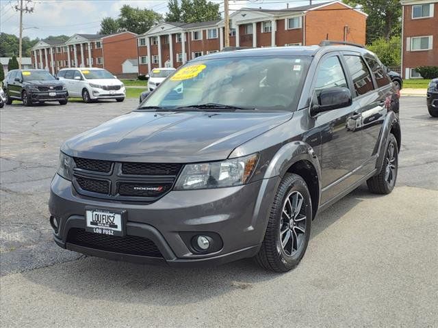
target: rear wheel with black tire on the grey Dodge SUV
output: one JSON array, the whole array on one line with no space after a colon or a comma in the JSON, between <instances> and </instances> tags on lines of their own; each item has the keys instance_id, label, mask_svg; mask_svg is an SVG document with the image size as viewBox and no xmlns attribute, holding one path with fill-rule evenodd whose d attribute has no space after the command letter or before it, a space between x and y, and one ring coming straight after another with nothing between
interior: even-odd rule
<instances>
[{"instance_id":1,"label":"rear wheel with black tire on the grey Dodge SUV","mask_svg":"<svg viewBox=\"0 0 438 328\"><path fill-rule=\"evenodd\" d=\"M367 180L368 190L372 193L387 195L396 185L398 172L398 145L397 139L389 134L388 145L385 149L385 159L381 172Z\"/></svg>"}]
</instances>

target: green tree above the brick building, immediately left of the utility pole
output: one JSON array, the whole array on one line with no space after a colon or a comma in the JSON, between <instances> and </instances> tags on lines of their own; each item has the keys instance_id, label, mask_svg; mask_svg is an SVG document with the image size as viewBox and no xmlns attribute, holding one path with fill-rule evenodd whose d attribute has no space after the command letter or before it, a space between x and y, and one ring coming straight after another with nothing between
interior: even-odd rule
<instances>
[{"instance_id":1,"label":"green tree above the brick building, immediately left of the utility pole","mask_svg":"<svg viewBox=\"0 0 438 328\"><path fill-rule=\"evenodd\" d=\"M219 3L207 0L181 0L181 21L185 23L220 20Z\"/></svg>"}]
</instances>

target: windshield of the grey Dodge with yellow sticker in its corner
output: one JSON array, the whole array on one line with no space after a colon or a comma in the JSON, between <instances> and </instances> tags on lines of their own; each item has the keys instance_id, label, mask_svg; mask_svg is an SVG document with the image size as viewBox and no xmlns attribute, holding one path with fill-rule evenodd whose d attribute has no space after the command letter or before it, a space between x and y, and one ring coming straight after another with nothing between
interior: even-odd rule
<instances>
[{"instance_id":1,"label":"windshield of the grey Dodge with yellow sticker in its corner","mask_svg":"<svg viewBox=\"0 0 438 328\"><path fill-rule=\"evenodd\" d=\"M234 57L193 61L166 79L141 107L205 104L251 109L296 107L309 57Z\"/></svg>"}]
</instances>

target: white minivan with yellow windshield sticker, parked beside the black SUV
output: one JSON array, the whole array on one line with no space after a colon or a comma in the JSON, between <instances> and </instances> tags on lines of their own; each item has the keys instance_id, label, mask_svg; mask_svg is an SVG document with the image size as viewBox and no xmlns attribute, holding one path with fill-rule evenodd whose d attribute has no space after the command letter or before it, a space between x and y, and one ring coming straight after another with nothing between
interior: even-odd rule
<instances>
[{"instance_id":1,"label":"white minivan with yellow windshield sticker, parked beside the black SUV","mask_svg":"<svg viewBox=\"0 0 438 328\"><path fill-rule=\"evenodd\" d=\"M57 73L65 83L68 96L84 102L98 99L125 100L125 85L103 68L63 68Z\"/></svg>"}]
</instances>

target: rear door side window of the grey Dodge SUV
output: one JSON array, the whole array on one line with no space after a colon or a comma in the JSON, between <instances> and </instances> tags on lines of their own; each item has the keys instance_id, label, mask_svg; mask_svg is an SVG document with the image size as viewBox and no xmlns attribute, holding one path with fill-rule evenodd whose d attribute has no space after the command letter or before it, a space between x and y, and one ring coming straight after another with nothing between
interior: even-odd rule
<instances>
[{"instance_id":1,"label":"rear door side window of the grey Dodge SUV","mask_svg":"<svg viewBox=\"0 0 438 328\"><path fill-rule=\"evenodd\" d=\"M355 55L344 55L348 71L355 85L356 96L366 94L374 89L368 67L362 57Z\"/></svg>"}]
</instances>

